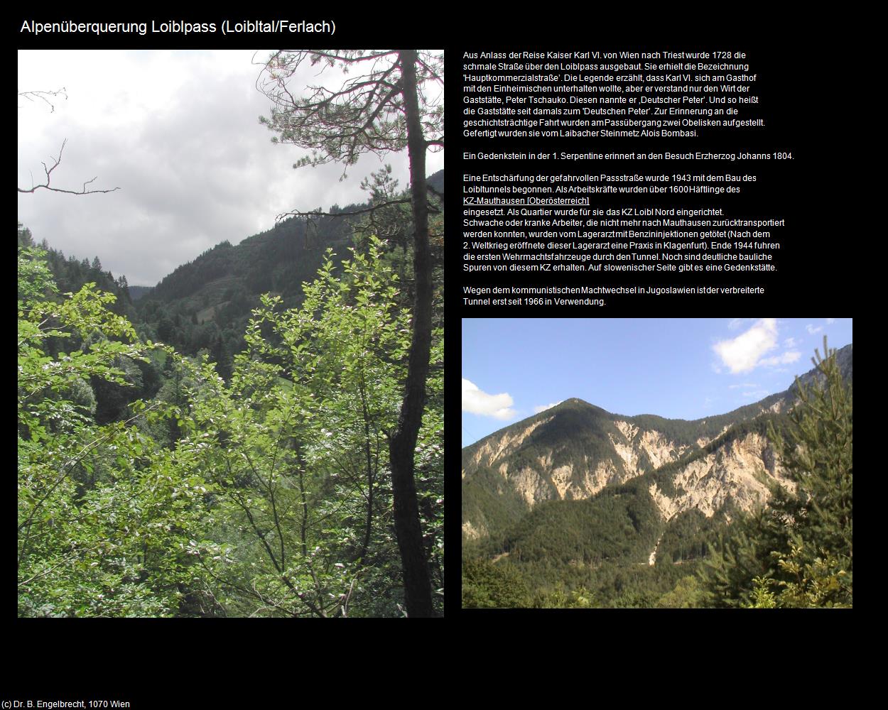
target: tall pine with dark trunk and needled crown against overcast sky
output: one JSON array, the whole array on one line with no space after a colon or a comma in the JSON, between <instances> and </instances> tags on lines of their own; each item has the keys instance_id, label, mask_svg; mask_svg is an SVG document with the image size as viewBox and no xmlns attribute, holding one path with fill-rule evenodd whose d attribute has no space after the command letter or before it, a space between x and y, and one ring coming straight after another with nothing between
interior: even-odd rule
<instances>
[{"instance_id":1,"label":"tall pine with dark trunk and needled crown against overcast sky","mask_svg":"<svg viewBox=\"0 0 888 710\"><path fill-rule=\"evenodd\" d=\"M299 92L294 96L289 81L306 66L321 70L336 67L348 76L337 90L312 86L307 87L307 96L301 97ZM266 62L259 84L274 101L271 117L261 121L279 134L281 143L311 151L295 167L341 162L347 170L361 154L408 151L410 196L396 202L409 203L413 217L414 299L400 415L388 440L394 525L404 576L404 603L410 617L434 615L416 495L415 457L432 350L432 257L425 154L444 146L443 78L443 56L430 51L278 51ZM383 206L374 204L369 209Z\"/></svg>"}]
</instances>

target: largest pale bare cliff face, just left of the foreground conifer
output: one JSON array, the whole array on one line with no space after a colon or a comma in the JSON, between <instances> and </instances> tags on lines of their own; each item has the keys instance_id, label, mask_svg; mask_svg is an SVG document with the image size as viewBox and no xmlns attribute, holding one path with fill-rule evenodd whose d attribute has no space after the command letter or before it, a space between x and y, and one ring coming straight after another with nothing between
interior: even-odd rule
<instances>
[{"instance_id":1,"label":"largest pale bare cliff face, just left of the foreground conifer","mask_svg":"<svg viewBox=\"0 0 888 710\"><path fill-rule=\"evenodd\" d=\"M770 497L768 483L795 489L777 461L768 440L748 434L720 446L711 454L691 461L672 479L674 492L665 493L656 483L649 491L662 516L698 509L712 517L728 501L749 511Z\"/></svg>"}]
</instances>

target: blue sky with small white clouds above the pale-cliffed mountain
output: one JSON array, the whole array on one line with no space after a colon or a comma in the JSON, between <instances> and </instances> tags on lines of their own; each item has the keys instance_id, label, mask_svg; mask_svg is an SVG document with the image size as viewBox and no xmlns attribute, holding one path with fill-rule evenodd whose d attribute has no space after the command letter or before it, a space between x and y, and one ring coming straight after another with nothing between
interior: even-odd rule
<instances>
[{"instance_id":1,"label":"blue sky with small white clouds above the pale-cliffed mountain","mask_svg":"<svg viewBox=\"0 0 888 710\"><path fill-rule=\"evenodd\" d=\"M786 390L848 318L464 319L463 446L577 397L700 419Z\"/></svg>"}]
</instances>

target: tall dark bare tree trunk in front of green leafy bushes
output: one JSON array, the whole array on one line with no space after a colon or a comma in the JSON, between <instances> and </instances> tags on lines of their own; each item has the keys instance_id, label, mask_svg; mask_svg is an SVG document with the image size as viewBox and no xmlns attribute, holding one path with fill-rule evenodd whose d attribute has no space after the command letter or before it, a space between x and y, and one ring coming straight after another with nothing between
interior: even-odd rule
<instances>
[{"instance_id":1,"label":"tall dark bare tree trunk in front of green leafy bushes","mask_svg":"<svg viewBox=\"0 0 888 710\"><path fill-rule=\"evenodd\" d=\"M425 187L425 139L416 95L416 50L400 51L401 91L407 115L410 157L410 196L413 206L413 271L416 294L410 342L407 383L397 429L389 439L392 466L394 527L404 573L404 599L408 617L433 616L432 584L419 525L414 480L416 437L423 420L425 381L432 348L432 260L429 254L429 209Z\"/></svg>"}]
</instances>

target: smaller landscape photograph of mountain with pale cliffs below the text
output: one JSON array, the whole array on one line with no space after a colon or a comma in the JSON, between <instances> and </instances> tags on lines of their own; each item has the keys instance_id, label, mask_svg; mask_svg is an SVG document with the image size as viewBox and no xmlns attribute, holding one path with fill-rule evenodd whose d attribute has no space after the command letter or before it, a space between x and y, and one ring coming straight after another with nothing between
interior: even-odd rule
<instances>
[{"instance_id":1,"label":"smaller landscape photograph of mountain with pale cliffs below the text","mask_svg":"<svg viewBox=\"0 0 888 710\"><path fill-rule=\"evenodd\" d=\"M463 319L462 607L852 607L852 319Z\"/></svg>"}]
</instances>

